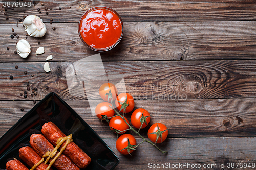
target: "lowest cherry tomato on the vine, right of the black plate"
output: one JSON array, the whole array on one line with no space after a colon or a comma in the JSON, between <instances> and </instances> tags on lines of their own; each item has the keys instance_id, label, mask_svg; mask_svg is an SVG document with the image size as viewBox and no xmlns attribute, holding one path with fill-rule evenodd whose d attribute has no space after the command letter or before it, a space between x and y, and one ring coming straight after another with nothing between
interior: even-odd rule
<instances>
[{"instance_id":1,"label":"lowest cherry tomato on the vine, right of the black plate","mask_svg":"<svg viewBox=\"0 0 256 170\"><path fill-rule=\"evenodd\" d=\"M130 145L128 146L128 139L129 139L129 143ZM118 152L120 152L123 155L127 155L127 154L131 154L134 150L132 150L135 146L136 146L136 139L133 135L130 134L124 134L121 135L117 140L116 140L116 149ZM129 147L129 153L127 149L124 149L126 147ZM122 150L124 149L124 150Z\"/></svg>"}]
</instances>

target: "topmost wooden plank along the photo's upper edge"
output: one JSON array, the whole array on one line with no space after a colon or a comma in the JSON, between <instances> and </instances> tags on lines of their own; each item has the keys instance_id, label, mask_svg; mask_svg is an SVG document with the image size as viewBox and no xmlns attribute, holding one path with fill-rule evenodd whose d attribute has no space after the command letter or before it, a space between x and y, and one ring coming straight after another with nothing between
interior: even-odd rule
<instances>
[{"instance_id":1,"label":"topmost wooden plank along the photo's upper edge","mask_svg":"<svg viewBox=\"0 0 256 170\"><path fill-rule=\"evenodd\" d=\"M42 1L41 1L42 2ZM1 23L16 23L17 16L38 14L56 18L54 22L78 22L82 14L95 6L107 6L115 9L124 22L141 21L234 21L255 20L256 2L253 0L225 0L225 1L44 1L45 5L37 4L26 11L7 10L5 15L0 15ZM46 15L44 7L50 7ZM62 10L58 8L61 7ZM37 8L41 9L38 13ZM3 12L2 12L3 13Z\"/></svg>"}]
</instances>

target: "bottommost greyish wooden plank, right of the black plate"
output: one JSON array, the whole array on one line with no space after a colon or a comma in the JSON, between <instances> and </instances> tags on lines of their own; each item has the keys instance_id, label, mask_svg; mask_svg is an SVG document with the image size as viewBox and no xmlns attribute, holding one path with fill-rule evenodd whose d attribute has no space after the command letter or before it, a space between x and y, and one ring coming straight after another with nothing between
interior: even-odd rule
<instances>
[{"instance_id":1,"label":"bottommost greyish wooden plank, right of the black plate","mask_svg":"<svg viewBox=\"0 0 256 170\"><path fill-rule=\"evenodd\" d=\"M120 159L120 163L115 169L230 169L227 168L228 163L230 165L234 163L235 168L232 169L242 169L239 166L236 168L238 165L236 163L252 165L255 163L256 156L255 137L169 138L160 145L161 149L169 151L167 154L161 154L150 144L142 143L137 151L132 153L133 156L119 154L115 148L115 139L104 139L104 141ZM137 140L137 142L139 141ZM167 163L166 167L161 166L165 163ZM189 163L190 166L184 164L180 167L179 163ZM220 164L223 163L225 168L220 167ZM176 164L179 165L178 168ZM154 166L155 168L153 168ZM157 168L157 166L160 167ZM172 168L172 166L176 166L176 168ZM246 166L243 168L253 169Z\"/></svg>"}]
</instances>

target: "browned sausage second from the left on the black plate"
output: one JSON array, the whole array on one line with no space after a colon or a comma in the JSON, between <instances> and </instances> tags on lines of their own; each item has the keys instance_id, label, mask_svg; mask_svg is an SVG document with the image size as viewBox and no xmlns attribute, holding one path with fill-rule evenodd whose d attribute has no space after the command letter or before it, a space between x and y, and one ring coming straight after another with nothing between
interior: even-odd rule
<instances>
[{"instance_id":1,"label":"browned sausage second from the left on the black plate","mask_svg":"<svg viewBox=\"0 0 256 170\"><path fill-rule=\"evenodd\" d=\"M42 158L33 150L31 147L22 147L19 150L19 157L22 159L27 165L33 167L36 165ZM45 170L49 164L44 164L42 162L35 169L36 170ZM52 168L50 168L52 170Z\"/></svg>"}]
</instances>

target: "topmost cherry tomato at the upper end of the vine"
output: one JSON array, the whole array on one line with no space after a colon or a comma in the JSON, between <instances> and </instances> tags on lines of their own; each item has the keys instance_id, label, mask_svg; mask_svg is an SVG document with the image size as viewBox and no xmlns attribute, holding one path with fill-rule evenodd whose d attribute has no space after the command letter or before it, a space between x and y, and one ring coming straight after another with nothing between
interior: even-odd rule
<instances>
[{"instance_id":1,"label":"topmost cherry tomato at the upper end of the vine","mask_svg":"<svg viewBox=\"0 0 256 170\"><path fill-rule=\"evenodd\" d=\"M108 95L106 95L107 93L109 93L109 91L112 93L112 98L113 98L113 101L114 101L116 99L116 96L117 96L117 88L112 83L102 84L99 88L99 95L101 96L101 98L104 101L110 102L111 99L108 100Z\"/></svg>"}]
</instances>

